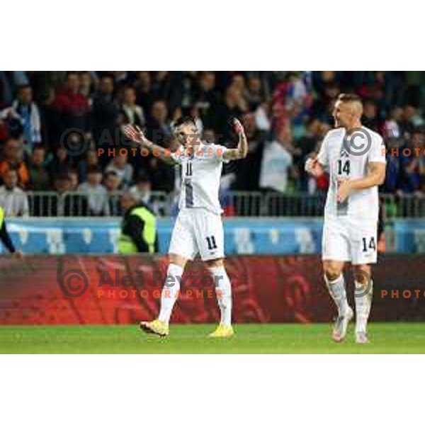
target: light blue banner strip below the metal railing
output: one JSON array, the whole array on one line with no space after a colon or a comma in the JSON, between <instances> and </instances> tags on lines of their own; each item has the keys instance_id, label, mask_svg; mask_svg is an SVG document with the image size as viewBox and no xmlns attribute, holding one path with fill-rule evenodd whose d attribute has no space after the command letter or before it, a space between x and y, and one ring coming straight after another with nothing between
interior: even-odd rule
<instances>
[{"instance_id":1,"label":"light blue banner strip below the metal railing","mask_svg":"<svg viewBox=\"0 0 425 425\"><path fill-rule=\"evenodd\" d=\"M228 217L225 249L234 254L318 254L322 218ZM118 249L118 217L8 219L13 242L28 254L113 254ZM166 253L174 220L158 220L159 252ZM385 228L387 252L425 252L425 220L397 219ZM0 246L0 251L4 248Z\"/></svg>"}]
</instances>

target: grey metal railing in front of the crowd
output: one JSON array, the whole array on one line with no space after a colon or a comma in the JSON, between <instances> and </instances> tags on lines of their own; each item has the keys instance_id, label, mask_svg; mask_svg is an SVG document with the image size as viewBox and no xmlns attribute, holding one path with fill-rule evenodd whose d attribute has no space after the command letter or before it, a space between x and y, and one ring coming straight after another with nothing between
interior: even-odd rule
<instances>
[{"instance_id":1,"label":"grey metal railing in front of the crowd","mask_svg":"<svg viewBox=\"0 0 425 425\"><path fill-rule=\"evenodd\" d=\"M88 217L122 214L120 195L122 192L91 194L69 192L27 192L31 217ZM220 203L225 215L238 217L320 217L323 215L326 194L277 193L272 191L246 192L221 191ZM163 191L149 192L145 202L161 217L176 213L178 193ZM381 196L387 218L425 217L425 197L405 194ZM0 205L2 200L0 199ZM95 210L92 208L94 207Z\"/></svg>"}]
</instances>

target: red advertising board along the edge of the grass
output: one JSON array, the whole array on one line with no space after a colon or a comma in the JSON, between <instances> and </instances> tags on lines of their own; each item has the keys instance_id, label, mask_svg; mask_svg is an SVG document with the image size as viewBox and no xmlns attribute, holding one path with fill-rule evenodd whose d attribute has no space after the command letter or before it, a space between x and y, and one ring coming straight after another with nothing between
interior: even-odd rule
<instances>
[{"instance_id":1,"label":"red advertising board along the edge of the grass","mask_svg":"<svg viewBox=\"0 0 425 425\"><path fill-rule=\"evenodd\" d=\"M425 255L385 255L373 271L372 320L425 320ZM0 258L0 324L135 324L152 319L166 275L162 256ZM233 318L327 322L335 314L319 256L232 256ZM353 283L347 273L348 297ZM194 262L182 277L174 323L217 322L212 279Z\"/></svg>"}]
</instances>

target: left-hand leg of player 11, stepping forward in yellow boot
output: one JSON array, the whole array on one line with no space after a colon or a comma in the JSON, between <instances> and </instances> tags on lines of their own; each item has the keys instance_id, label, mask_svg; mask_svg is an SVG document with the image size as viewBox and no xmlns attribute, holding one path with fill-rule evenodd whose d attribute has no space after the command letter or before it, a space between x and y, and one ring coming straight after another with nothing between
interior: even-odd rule
<instances>
[{"instance_id":1,"label":"left-hand leg of player 11, stepping forward in yellow boot","mask_svg":"<svg viewBox=\"0 0 425 425\"><path fill-rule=\"evenodd\" d=\"M181 276L188 259L177 254L169 254L169 266L166 280L161 293L161 310L159 317L152 322L140 322L140 329L147 334L167 336L169 334L169 321L173 312L174 303L179 296Z\"/></svg>"}]
</instances>

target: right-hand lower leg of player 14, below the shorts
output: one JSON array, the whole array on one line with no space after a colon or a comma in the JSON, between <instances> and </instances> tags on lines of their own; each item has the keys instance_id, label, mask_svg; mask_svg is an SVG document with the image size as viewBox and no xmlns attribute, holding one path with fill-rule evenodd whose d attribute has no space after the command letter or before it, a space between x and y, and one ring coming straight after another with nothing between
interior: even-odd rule
<instances>
[{"instance_id":1,"label":"right-hand lower leg of player 14, below the shorts","mask_svg":"<svg viewBox=\"0 0 425 425\"><path fill-rule=\"evenodd\" d=\"M368 342L368 318L372 307L373 281L371 268L368 264L353 266L354 284L356 291L356 342L364 344Z\"/></svg>"}]
</instances>

